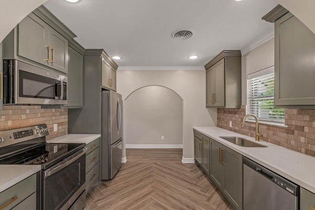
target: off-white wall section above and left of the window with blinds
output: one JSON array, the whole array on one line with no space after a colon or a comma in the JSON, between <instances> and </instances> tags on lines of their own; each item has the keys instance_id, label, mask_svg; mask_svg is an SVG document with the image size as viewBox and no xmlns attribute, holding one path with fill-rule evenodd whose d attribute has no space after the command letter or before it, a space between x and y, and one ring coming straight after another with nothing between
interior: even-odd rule
<instances>
[{"instance_id":1,"label":"off-white wall section above and left of the window with blinds","mask_svg":"<svg viewBox=\"0 0 315 210\"><path fill-rule=\"evenodd\" d=\"M242 56L242 105L247 104L247 75L273 65L275 65L274 38Z\"/></svg>"}]
</instances>

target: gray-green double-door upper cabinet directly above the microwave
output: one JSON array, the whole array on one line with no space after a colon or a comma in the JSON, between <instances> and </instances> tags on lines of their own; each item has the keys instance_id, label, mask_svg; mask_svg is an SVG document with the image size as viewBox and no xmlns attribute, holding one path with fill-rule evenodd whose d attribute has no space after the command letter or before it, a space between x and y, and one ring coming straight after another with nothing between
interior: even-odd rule
<instances>
[{"instance_id":1,"label":"gray-green double-door upper cabinet directly above the microwave","mask_svg":"<svg viewBox=\"0 0 315 210\"><path fill-rule=\"evenodd\" d=\"M68 40L75 36L42 5L3 40L3 59L23 60L67 73Z\"/></svg>"}]
</instances>

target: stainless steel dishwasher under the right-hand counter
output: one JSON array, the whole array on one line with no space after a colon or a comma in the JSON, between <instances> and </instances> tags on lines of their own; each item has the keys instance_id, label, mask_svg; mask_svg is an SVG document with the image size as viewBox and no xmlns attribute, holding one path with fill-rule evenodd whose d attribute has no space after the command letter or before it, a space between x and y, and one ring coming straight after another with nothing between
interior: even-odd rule
<instances>
[{"instance_id":1,"label":"stainless steel dishwasher under the right-hand counter","mask_svg":"<svg viewBox=\"0 0 315 210\"><path fill-rule=\"evenodd\" d=\"M244 210L298 210L299 186L243 158Z\"/></svg>"}]
</instances>

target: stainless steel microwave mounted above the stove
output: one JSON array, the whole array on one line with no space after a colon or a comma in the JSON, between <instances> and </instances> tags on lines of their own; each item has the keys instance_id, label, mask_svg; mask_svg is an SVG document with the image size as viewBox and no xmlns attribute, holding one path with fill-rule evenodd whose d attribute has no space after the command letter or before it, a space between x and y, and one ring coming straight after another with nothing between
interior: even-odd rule
<instances>
[{"instance_id":1,"label":"stainless steel microwave mounted above the stove","mask_svg":"<svg viewBox=\"0 0 315 210\"><path fill-rule=\"evenodd\" d=\"M67 104L67 77L19 60L3 60L3 104Z\"/></svg>"}]
</instances>

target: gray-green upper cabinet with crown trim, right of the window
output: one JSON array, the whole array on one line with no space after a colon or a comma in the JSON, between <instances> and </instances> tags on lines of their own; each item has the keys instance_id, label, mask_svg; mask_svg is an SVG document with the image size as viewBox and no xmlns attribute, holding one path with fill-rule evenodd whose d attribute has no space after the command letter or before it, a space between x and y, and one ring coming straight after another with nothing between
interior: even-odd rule
<instances>
[{"instance_id":1,"label":"gray-green upper cabinet with crown trim, right of the window","mask_svg":"<svg viewBox=\"0 0 315 210\"><path fill-rule=\"evenodd\" d=\"M315 108L315 34L278 5L263 17L275 23L275 106Z\"/></svg>"}]
</instances>

